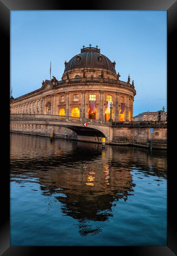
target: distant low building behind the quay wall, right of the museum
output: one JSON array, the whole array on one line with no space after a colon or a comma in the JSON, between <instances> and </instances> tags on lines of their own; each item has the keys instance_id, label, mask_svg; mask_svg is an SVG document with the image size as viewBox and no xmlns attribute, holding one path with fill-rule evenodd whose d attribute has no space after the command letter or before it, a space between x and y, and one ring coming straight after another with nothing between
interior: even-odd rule
<instances>
[{"instance_id":1,"label":"distant low building behind the quay wall, right of the museum","mask_svg":"<svg viewBox=\"0 0 177 256\"><path fill-rule=\"evenodd\" d=\"M158 121L159 112L143 112L133 117L133 121ZM161 121L167 120L167 112L161 111Z\"/></svg>"}]
</instances>

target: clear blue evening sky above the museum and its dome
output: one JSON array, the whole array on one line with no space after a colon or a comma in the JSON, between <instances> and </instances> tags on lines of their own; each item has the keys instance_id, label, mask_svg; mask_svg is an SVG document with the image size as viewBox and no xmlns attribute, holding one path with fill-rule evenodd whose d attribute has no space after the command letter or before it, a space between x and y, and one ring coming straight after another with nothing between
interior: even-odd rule
<instances>
[{"instance_id":1,"label":"clear blue evening sky above the museum and its dome","mask_svg":"<svg viewBox=\"0 0 177 256\"><path fill-rule=\"evenodd\" d=\"M83 45L116 61L120 80L134 80L133 115L167 110L166 11L11 11L13 97L61 80L64 62Z\"/></svg>"}]
</instances>

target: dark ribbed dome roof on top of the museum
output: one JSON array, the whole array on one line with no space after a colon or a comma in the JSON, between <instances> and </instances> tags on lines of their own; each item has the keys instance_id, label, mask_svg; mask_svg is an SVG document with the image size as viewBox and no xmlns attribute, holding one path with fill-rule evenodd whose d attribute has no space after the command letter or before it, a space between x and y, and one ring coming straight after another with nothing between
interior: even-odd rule
<instances>
[{"instance_id":1,"label":"dark ribbed dome roof on top of the museum","mask_svg":"<svg viewBox=\"0 0 177 256\"><path fill-rule=\"evenodd\" d=\"M112 63L110 59L100 54L100 49L86 47L81 49L81 53L70 59L68 63L65 62L65 71L77 68L98 68L107 69L116 74L115 64L115 62Z\"/></svg>"}]
</instances>

